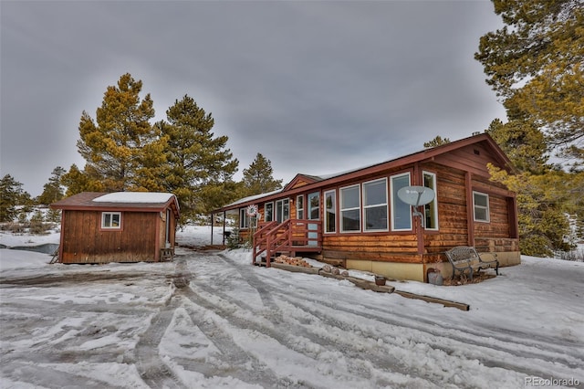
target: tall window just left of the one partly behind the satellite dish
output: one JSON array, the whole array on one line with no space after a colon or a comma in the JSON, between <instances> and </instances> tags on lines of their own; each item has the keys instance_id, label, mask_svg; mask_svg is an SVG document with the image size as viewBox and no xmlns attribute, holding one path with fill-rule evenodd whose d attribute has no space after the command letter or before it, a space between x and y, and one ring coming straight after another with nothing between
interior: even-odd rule
<instances>
[{"instance_id":1,"label":"tall window just left of the one partly behind the satellite dish","mask_svg":"<svg viewBox=\"0 0 584 389\"><path fill-rule=\"evenodd\" d=\"M363 184L363 229L387 231L387 180Z\"/></svg>"}]
</instances>

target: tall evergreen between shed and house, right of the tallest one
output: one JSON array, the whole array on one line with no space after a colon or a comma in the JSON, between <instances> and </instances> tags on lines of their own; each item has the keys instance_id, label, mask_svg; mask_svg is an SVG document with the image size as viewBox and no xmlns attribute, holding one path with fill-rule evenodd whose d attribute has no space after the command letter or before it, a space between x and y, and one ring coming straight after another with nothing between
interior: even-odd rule
<instances>
[{"instance_id":1,"label":"tall evergreen between shed and house, right of the tallest one","mask_svg":"<svg viewBox=\"0 0 584 389\"><path fill-rule=\"evenodd\" d=\"M226 136L214 136L214 119L185 95L157 123L167 140L166 190L179 199L183 221L211 210L214 194L230 187L238 161L226 148ZM226 186L225 186L226 185ZM217 188L222 188L217 190ZM223 204L221 204L223 205Z\"/></svg>"}]
</instances>

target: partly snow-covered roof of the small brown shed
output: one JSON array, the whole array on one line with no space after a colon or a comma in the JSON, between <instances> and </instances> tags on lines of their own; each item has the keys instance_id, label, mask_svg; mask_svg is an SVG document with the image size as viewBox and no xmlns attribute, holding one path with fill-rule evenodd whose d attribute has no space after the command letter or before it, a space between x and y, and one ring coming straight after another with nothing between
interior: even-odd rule
<instances>
[{"instance_id":1,"label":"partly snow-covered roof of the small brown shed","mask_svg":"<svg viewBox=\"0 0 584 389\"><path fill-rule=\"evenodd\" d=\"M175 195L159 192L82 192L72 195L57 203L51 208L63 210L92 210L92 211L129 211L129 212L160 212L168 207L179 216L179 202Z\"/></svg>"}]
</instances>

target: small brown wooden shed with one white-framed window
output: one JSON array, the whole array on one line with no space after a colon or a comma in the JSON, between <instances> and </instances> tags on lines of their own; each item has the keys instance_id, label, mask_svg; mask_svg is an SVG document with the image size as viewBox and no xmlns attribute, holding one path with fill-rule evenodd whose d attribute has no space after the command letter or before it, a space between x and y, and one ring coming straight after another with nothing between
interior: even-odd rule
<instances>
[{"instance_id":1,"label":"small brown wooden shed with one white-framed window","mask_svg":"<svg viewBox=\"0 0 584 389\"><path fill-rule=\"evenodd\" d=\"M61 263L159 262L174 253L175 195L83 192L51 208L62 210Z\"/></svg>"}]
</instances>

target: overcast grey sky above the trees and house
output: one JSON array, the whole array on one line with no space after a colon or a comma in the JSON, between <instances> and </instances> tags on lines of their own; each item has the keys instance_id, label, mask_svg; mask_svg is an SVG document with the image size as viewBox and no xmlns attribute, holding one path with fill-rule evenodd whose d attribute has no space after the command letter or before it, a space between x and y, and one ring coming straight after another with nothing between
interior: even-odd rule
<instances>
[{"instance_id":1,"label":"overcast grey sky above the trees and house","mask_svg":"<svg viewBox=\"0 0 584 389\"><path fill-rule=\"evenodd\" d=\"M156 121L185 94L239 173L326 174L505 120L474 60L502 26L489 1L1 1L2 176L40 195L82 167L78 123L130 73Z\"/></svg>"}]
</instances>

